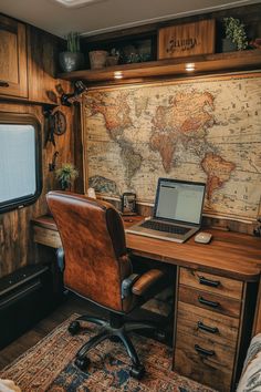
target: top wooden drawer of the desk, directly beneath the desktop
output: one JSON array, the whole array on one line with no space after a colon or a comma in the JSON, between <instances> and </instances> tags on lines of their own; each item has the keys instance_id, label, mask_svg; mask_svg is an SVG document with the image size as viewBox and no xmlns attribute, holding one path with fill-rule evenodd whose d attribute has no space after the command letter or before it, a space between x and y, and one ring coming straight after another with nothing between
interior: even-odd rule
<instances>
[{"instance_id":1,"label":"top wooden drawer of the desk, directly beneath the desktop","mask_svg":"<svg viewBox=\"0 0 261 392\"><path fill-rule=\"evenodd\" d=\"M211 275L194 269L180 268L180 285L194 287L199 290L219 293L221 296L241 300L242 281Z\"/></svg>"}]
</instances>

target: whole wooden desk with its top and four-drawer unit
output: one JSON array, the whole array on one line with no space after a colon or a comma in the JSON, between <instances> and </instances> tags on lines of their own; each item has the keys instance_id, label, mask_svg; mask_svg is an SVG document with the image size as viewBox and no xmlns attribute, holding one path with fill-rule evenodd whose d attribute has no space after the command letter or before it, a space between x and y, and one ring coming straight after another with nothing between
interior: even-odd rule
<instances>
[{"instance_id":1,"label":"whole wooden desk with its top and four-drawer unit","mask_svg":"<svg viewBox=\"0 0 261 392\"><path fill-rule=\"evenodd\" d=\"M196 244L194 238L176 244L133 234L126 235L126 241L136 256L177 266L174 368L219 391L229 391L241 370L254 311L259 321L253 331L261 330L259 306L255 310L261 240L208 231L213 235L209 245ZM33 236L38 244L62 246L50 216L33 219Z\"/></svg>"}]
</instances>

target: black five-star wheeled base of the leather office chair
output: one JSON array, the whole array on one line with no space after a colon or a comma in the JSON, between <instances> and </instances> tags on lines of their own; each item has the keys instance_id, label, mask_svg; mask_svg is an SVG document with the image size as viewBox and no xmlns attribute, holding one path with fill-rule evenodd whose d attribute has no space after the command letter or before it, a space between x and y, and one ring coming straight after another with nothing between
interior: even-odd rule
<instances>
[{"instance_id":1,"label":"black five-star wheeled base of the leather office chair","mask_svg":"<svg viewBox=\"0 0 261 392\"><path fill-rule=\"evenodd\" d=\"M122 314L109 313L109 321L88 317L81 316L76 320L72 321L69 326L69 332L71 334L76 334L82 328L80 321L87 321L101 326L101 332L91 338L85 344L81 347L79 352L76 353L75 364L79 369L85 370L90 364L90 360L86 358L86 353L100 344L105 339L109 339L112 341L121 341L125 347L128 357L132 360L132 367L129 370L130 376L140 380L145 373L145 368L140 363L137 352L133 345L132 340L128 337L128 332L135 330L154 330L156 331L156 326L146 323L146 322L136 322L136 321L127 321L124 322Z\"/></svg>"}]
</instances>

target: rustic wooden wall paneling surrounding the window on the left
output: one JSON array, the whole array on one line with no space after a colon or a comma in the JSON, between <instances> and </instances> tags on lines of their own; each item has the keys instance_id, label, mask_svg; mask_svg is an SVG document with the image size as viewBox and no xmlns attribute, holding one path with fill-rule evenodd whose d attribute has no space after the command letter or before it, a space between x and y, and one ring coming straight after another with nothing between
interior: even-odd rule
<instances>
[{"instance_id":1,"label":"rustic wooden wall paneling surrounding the window on the left","mask_svg":"<svg viewBox=\"0 0 261 392\"><path fill-rule=\"evenodd\" d=\"M55 137L56 146L51 143L44 147L43 113L41 105L0 103L0 111L12 113L33 114L40 121L42 134L42 175L43 188L39 199L22 209L14 209L0 214L0 277L14 271L17 268L35 261L35 248L32 240L30 220L48 213L45 194L50 189L58 189L54 172L49 172L49 163L53 153L59 151L58 165L64 162L74 162L74 142L72 133L72 109L62 106L66 115L67 131Z\"/></svg>"}]
</instances>

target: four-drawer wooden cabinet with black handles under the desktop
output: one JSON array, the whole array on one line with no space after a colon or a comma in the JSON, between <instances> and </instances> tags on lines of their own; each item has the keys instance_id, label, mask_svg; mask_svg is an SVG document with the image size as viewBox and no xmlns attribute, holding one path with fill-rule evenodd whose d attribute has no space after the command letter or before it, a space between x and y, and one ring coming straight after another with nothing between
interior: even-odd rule
<instances>
[{"instance_id":1,"label":"four-drawer wooden cabinet with black handles under the desktop","mask_svg":"<svg viewBox=\"0 0 261 392\"><path fill-rule=\"evenodd\" d=\"M240 280L180 268L174 355L178 372L218 391L231 390L246 299Z\"/></svg>"}]
</instances>

